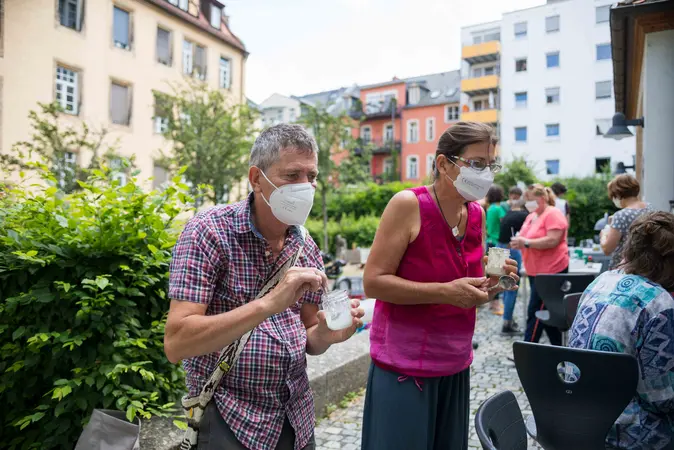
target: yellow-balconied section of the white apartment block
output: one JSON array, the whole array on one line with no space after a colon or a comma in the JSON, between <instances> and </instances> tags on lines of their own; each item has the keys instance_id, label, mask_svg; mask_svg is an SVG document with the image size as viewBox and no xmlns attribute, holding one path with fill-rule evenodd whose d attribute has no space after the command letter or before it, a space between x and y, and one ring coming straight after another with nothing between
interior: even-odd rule
<instances>
[{"instance_id":1,"label":"yellow-balconied section of the white apartment block","mask_svg":"<svg viewBox=\"0 0 674 450\"><path fill-rule=\"evenodd\" d=\"M461 29L461 120L499 128L501 23Z\"/></svg>"}]
</instances>

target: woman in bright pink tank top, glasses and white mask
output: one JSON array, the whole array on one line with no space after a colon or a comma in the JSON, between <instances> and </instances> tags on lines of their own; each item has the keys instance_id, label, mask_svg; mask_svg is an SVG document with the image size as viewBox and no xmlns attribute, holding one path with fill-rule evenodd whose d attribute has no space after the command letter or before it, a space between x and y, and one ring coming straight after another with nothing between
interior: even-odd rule
<instances>
[{"instance_id":1,"label":"woman in bright pink tank top, glasses and white mask","mask_svg":"<svg viewBox=\"0 0 674 450\"><path fill-rule=\"evenodd\" d=\"M495 145L489 125L455 124L438 142L434 183L396 194L384 211L364 275L377 302L363 450L468 447L475 307L499 292L483 276L475 202L500 168ZM505 269L516 274L516 262Z\"/></svg>"}]
</instances>

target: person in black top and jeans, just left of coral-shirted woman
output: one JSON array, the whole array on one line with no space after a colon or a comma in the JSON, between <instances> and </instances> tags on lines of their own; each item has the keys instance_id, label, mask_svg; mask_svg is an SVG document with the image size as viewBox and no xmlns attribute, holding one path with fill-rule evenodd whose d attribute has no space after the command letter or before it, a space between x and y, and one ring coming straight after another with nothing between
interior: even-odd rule
<instances>
[{"instance_id":1,"label":"person in black top and jeans, just left of coral-shirted woman","mask_svg":"<svg viewBox=\"0 0 674 450\"><path fill-rule=\"evenodd\" d=\"M519 198L513 198L513 190L519 191ZM501 229L498 238L498 246L509 248L510 240L519 233L524 221L529 213L524 209L524 199L522 199L522 190L518 187L510 189L510 210L501 220ZM510 257L517 261L517 275L522 268L522 253L520 250L511 249ZM521 333L517 322L513 321L513 312L515 311L515 302L517 301L517 290L506 291L503 293L503 327L502 334L513 335Z\"/></svg>"}]
</instances>

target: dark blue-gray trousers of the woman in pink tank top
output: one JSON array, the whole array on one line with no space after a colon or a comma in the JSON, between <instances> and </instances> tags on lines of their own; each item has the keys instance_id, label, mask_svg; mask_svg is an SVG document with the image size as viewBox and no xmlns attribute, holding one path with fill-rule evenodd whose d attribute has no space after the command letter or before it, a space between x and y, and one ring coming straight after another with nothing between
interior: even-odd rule
<instances>
[{"instance_id":1,"label":"dark blue-gray trousers of the woman in pink tank top","mask_svg":"<svg viewBox=\"0 0 674 450\"><path fill-rule=\"evenodd\" d=\"M447 377L403 377L370 365L362 450L468 448L470 368Z\"/></svg>"}]
</instances>

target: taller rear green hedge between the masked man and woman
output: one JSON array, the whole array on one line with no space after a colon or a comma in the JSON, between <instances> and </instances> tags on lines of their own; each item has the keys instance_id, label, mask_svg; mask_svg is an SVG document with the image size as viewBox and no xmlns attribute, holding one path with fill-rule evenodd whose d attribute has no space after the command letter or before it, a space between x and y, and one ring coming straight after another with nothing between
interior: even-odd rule
<instances>
[{"instance_id":1,"label":"taller rear green hedge between the masked man and woman","mask_svg":"<svg viewBox=\"0 0 674 450\"><path fill-rule=\"evenodd\" d=\"M328 195L328 219L339 220L352 214L354 217L381 216L391 197L403 189L413 187L410 183L366 184L354 188L341 188ZM315 202L311 217L321 219L320 202ZM321 239L322 241L322 239Z\"/></svg>"}]
</instances>

